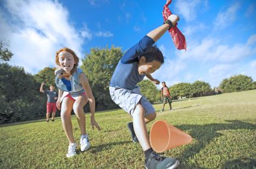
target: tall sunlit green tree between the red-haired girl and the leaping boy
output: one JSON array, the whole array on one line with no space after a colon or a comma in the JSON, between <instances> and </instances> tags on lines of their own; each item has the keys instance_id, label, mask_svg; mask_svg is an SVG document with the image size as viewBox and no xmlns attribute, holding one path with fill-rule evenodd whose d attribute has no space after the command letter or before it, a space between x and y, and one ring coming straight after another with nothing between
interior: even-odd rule
<instances>
[{"instance_id":1,"label":"tall sunlit green tree between the red-haired girl and the leaping boy","mask_svg":"<svg viewBox=\"0 0 256 169\"><path fill-rule=\"evenodd\" d=\"M86 58L82 60L81 68L92 88L97 110L117 107L110 98L108 86L121 56L123 56L123 52L120 47L92 48L90 53L86 54Z\"/></svg>"}]
</instances>

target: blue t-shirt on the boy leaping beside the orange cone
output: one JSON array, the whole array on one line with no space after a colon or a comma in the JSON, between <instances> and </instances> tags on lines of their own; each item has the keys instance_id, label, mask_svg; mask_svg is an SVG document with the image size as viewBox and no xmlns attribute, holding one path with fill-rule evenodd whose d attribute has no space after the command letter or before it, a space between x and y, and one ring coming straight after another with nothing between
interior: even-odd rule
<instances>
[{"instance_id":1,"label":"blue t-shirt on the boy leaping beside the orange cone","mask_svg":"<svg viewBox=\"0 0 256 169\"><path fill-rule=\"evenodd\" d=\"M114 74L110 81L111 87L120 87L133 90L137 87L138 82L142 81L145 75L139 75L138 63L142 53L154 44L151 37L144 36L139 43L131 47L124 53L115 68Z\"/></svg>"}]
</instances>

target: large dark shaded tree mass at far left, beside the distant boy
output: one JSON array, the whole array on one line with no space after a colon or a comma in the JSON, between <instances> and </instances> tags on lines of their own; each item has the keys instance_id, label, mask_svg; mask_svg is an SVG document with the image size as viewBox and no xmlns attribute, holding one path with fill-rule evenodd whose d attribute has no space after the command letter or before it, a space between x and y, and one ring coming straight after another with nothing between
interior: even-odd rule
<instances>
[{"instance_id":1,"label":"large dark shaded tree mass at far left, beside the distant boy","mask_svg":"<svg viewBox=\"0 0 256 169\"><path fill-rule=\"evenodd\" d=\"M0 64L0 123L38 119L45 114L45 100L38 82L24 69ZM42 104L43 103L43 104Z\"/></svg>"}]
</instances>

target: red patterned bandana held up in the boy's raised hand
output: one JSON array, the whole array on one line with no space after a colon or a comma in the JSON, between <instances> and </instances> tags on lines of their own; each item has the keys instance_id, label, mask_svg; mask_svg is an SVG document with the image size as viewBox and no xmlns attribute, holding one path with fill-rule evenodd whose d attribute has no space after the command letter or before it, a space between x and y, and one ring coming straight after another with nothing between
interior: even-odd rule
<instances>
[{"instance_id":1,"label":"red patterned bandana held up in the boy's raised hand","mask_svg":"<svg viewBox=\"0 0 256 169\"><path fill-rule=\"evenodd\" d=\"M168 5L171 4L171 1L172 0L167 0L166 5L164 5L164 10L162 13L164 21L166 21L168 19L168 16L171 15L171 11L168 8ZM173 39L175 47L179 50L186 50L186 39L185 36L180 32L179 28L177 28L177 23L172 28L170 28L169 33L171 34L171 38Z\"/></svg>"}]
</instances>

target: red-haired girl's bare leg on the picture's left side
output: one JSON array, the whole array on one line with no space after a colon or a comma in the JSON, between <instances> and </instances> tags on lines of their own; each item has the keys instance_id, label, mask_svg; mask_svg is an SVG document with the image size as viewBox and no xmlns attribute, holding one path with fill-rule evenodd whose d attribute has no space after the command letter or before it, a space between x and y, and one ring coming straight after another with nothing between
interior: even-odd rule
<instances>
[{"instance_id":1,"label":"red-haired girl's bare leg on the picture's left side","mask_svg":"<svg viewBox=\"0 0 256 169\"><path fill-rule=\"evenodd\" d=\"M71 123L71 110L73 104L74 101L68 97L65 97L61 103L61 121L63 123L63 129L70 144L75 142Z\"/></svg>"}]
</instances>

